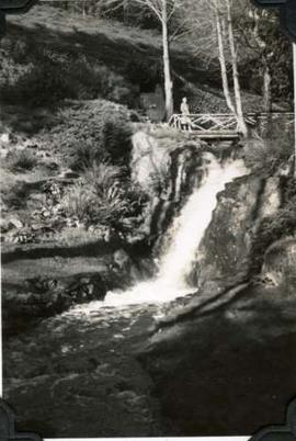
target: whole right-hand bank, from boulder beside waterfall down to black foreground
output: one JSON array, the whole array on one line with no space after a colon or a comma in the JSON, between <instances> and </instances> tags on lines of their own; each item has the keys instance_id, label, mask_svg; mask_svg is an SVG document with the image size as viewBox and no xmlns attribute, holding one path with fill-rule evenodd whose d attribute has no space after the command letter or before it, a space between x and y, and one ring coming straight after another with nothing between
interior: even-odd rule
<instances>
[{"instance_id":1,"label":"whole right-hand bank, from boulder beside waterfall down to black foreground","mask_svg":"<svg viewBox=\"0 0 296 441\"><path fill-rule=\"evenodd\" d=\"M196 295L139 348L182 436L246 434L284 420L296 389L296 225L288 237L272 225L285 185L253 174L227 185L196 253Z\"/></svg>"}]
</instances>

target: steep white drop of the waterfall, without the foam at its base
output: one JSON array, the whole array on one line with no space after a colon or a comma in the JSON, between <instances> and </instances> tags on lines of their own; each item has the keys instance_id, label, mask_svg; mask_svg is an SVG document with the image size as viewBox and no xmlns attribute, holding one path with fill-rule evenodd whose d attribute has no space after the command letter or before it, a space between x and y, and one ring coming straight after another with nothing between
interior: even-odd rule
<instances>
[{"instance_id":1,"label":"steep white drop of the waterfall, without the foam at its base","mask_svg":"<svg viewBox=\"0 0 296 441\"><path fill-rule=\"evenodd\" d=\"M224 190L227 182L247 173L242 160L230 159L221 166L210 154L204 155L204 166L206 174L174 219L173 240L161 258L158 280L177 289L186 285L186 275L216 207L217 193Z\"/></svg>"}]
</instances>

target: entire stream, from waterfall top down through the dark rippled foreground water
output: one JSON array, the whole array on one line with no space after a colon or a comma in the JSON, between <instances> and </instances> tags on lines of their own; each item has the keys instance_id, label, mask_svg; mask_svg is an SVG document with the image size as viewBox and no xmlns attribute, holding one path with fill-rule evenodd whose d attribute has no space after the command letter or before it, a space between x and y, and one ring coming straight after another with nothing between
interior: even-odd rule
<instances>
[{"instance_id":1,"label":"entire stream, from waterfall top down through the dark rippled foreground water","mask_svg":"<svg viewBox=\"0 0 296 441\"><path fill-rule=\"evenodd\" d=\"M152 280L75 306L8 341L4 397L19 430L46 438L180 434L162 415L137 350L157 320L196 294L187 275L217 193L247 173L242 160L220 165L205 154L204 161L203 181L173 220Z\"/></svg>"}]
</instances>

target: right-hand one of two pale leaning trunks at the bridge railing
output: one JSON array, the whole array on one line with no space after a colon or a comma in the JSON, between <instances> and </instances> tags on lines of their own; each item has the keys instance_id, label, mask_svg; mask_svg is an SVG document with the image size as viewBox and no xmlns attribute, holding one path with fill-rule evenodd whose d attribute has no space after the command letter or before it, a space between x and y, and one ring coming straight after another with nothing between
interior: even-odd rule
<instances>
[{"instance_id":1,"label":"right-hand one of two pale leaning trunks at the bridge railing","mask_svg":"<svg viewBox=\"0 0 296 441\"><path fill-rule=\"evenodd\" d=\"M239 131L242 133L242 135L247 137L248 128L247 128L247 124L246 124L246 121L243 117L242 103L241 103L238 61L237 61L237 52L236 52L236 46L235 46L230 0L226 0L226 5L227 5L228 38L229 38L229 47L230 47L230 54L231 54L231 65L232 65L232 76L234 76L234 88L235 88L235 97L236 97L238 126L239 126Z\"/></svg>"}]
</instances>

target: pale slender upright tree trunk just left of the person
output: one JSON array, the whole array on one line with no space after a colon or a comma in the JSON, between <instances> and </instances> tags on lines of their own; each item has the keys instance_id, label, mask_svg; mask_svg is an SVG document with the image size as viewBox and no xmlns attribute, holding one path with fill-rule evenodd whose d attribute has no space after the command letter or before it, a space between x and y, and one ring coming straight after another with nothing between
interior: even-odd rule
<instances>
[{"instance_id":1,"label":"pale slender upright tree trunk just left of the person","mask_svg":"<svg viewBox=\"0 0 296 441\"><path fill-rule=\"evenodd\" d=\"M164 95L166 95L166 118L167 121L173 114L173 94L170 68L170 53L168 38L168 10L167 0L161 0L161 25L162 25L162 50L163 50L163 75L164 75Z\"/></svg>"}]
</instances>

